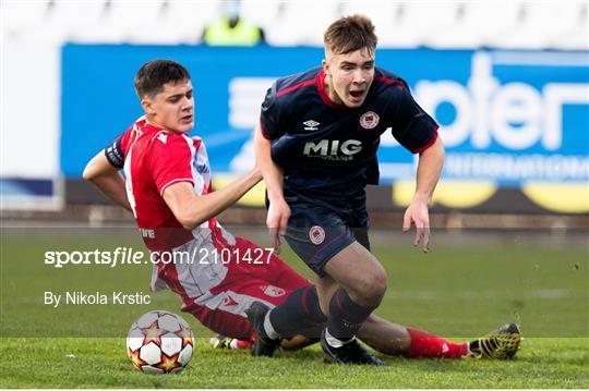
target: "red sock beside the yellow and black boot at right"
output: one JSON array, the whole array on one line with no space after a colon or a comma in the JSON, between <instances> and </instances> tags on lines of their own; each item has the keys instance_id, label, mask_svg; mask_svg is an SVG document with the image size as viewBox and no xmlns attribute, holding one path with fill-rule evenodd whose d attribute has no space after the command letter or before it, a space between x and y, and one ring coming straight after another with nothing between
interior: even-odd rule
<instances>
[{"instance_id":1,"label":"red sock beside the yellow and black boot at right","mask_svg":"<svg viewBox=\"0 0 589 391\"><path fill-rule=\"evenodd\" d=\"M418 329L407 328L411 337L410 357L460 358L468 354L468 342L449 342Z\"/></svg>"}]
</instances>

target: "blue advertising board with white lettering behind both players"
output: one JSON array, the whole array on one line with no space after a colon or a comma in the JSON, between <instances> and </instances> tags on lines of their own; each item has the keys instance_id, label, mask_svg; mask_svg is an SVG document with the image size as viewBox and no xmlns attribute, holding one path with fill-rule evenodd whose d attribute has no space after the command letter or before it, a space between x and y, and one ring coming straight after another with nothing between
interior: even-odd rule
<instances>
[{"instance_id":1,"label":"blue advertising board with white lettering behind both players","mask_svg":"<svg viewBox=\"0 0 589 391\"><path fill-rule=\"evenodd\" d=\"M146 61L183 63L195 87L193 134L216 173L244 171L260 105L277 77L318 66L320 48L67 45L62 56L61 170L86 161L142 114L133 77ZM390 50L380 66L411 87L441 124L447 180L580 183L589 179L589 53ZM382 183L413 176L414 157L384 135Z\"/></svg>"}]
</instances>

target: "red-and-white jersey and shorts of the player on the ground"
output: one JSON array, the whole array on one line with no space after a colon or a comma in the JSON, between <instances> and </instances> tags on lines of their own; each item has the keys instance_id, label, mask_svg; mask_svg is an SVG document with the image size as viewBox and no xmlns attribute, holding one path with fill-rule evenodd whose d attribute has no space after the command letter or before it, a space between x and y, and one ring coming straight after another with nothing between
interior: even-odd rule
<instances>
[{"instance_id":1,"label":"red-and-white jersey and shorts of the player on the ground","mask_svg":"<svg viewBox=\"0 0 589 391\"><path fill-rule=\"evenodd\" d=\"M249 338L253 330L245 309L253 302L273 307L309 284L273 255L272 248L231 235L215 218L192 231L175 218L163 197L166 187L189 182L196 195L212 191L208 158L200 137L166 131L142 117L107 145L105 155L110 164L124 169L127 196L137 227L156 255L152 257L152 290L169 288L179 294L182 310L206 327ZM264 265L257 264L261 259Z\"/></svg>"}]
</instances>

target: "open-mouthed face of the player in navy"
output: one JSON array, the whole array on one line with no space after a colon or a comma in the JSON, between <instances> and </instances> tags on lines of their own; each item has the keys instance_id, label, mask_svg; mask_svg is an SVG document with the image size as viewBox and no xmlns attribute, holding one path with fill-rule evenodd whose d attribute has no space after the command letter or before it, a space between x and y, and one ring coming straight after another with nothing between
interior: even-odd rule
<instances>
[{"instance_id":1,"label":"open-mouthed face of the player in navy","mask_svg":"<svg viewBox=\"0 0 589 391\"><path fill-rule=\"evenodd\" d=\"M362 106L374 80L374 53L360 49L346 54L327 53L323 68L327 94L333 101L349 108Z\"/></svg>"}]
</instances>

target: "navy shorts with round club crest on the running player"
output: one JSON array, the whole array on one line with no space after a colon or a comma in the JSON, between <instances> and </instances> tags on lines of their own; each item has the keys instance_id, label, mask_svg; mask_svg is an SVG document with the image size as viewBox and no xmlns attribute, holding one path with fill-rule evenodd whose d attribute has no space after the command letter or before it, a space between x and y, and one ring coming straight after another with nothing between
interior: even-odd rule
<instances>
[{"instance_id":1,"label":"navy shorts with round club crest on the running player","mask_svg":"<svg viewBox=\"0 0 589 391\"><path fill-rule=\"evenodd\" d=\"M317 276L325 277L325 265L345 247L359 242L370 251L365 199L337 209L324 203L292 203L286 240L292 251Z\"/></svg>"}]
</instances>

